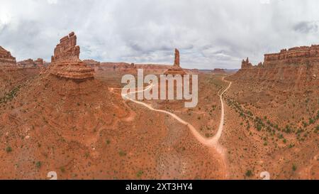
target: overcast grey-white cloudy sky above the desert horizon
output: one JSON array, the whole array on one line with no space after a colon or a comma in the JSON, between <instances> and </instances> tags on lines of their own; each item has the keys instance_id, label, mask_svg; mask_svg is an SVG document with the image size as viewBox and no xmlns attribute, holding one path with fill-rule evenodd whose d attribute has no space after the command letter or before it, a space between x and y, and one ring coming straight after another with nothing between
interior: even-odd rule
<instances>
[{"instance_id":1,"label":"overcast grey-white cloudy sky above the desert horizon","mask_svg":"<svg viewBox=\"0 0 319 194\"><path fill-rule=\"evenodd\" d=\"M319 44L319 1L309 0L0 0L0 45L17 60L50 61L77 34L82 59L240 68L264 53Z\"/></svg>"}]
</instances>

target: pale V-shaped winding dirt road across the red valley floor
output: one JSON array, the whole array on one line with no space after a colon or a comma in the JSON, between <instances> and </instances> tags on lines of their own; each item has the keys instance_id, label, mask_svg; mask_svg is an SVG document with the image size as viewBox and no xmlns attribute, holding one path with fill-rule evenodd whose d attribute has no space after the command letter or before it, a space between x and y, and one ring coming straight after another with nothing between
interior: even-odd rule
<instances>
[{"instance_id":1,"label":"pale V-shaped winding dirt road across the red valley floor","mask_svg":"<svg viewBox=\"0 0 319 194\"><path fill-rule=\"evenodd\" d=\"M224 80L224 77L223 77L223 81ZM228 81L225 81L225 82L228 82ZM189 127L189 129L191 130L192 134L196 137L196 139L201 142L201 144L205 145L205 146L210 146L210 147L213 147L214 149L216 149L220 154L223 154L223 148L222 146L220 146L218 144L218 140L220 139L220 136L223 134L223 126L224 126L224 116L225 116L225 110L224 110L224 103L223 103L223 94L230 88L230 86L232 85L232 82L228 82L229 85L228 87L223 90L223 88L220 90L223 92L220 93L220 91L218 92L218 96L220 97L220 103L221 103L221 113L220 113L220 124L219 124L219 127L218 127L218 131L217 133L211 137L211 138L206 138L206 137L203 137L196 129L194 126L192 126L189 122L185 122L183 119L181 119L180 117L178 117L176 114L172 113L172 112L167 112L167 111L164 111L162 109L155 109L153 107L151 107L149 104L146 104L144 102L140 102L140 101L137 101L135 99L130 99L128 97L128 95L130 94L134 94L134 93L139 93L139 92L145 92L147 90L150 90L152 87L154 87L155 85L153 84L150 84L149 86L147 86L144 90L140 90L140 91L137 91L137 92L129 92L128 94L126 95L122 95L122 97L124 99L128 99L130 100L131 102L134 102L136 104L140 104L144 107L147 107L147 109L150 109L152 111L155 111L155 112L162 112L164 114L168 114L169 116L173 117L174 119L176 119L178 122L180 122L181 124L184 124L186 125L187 127ZM111 88L111 90L113 89L116 89L116 88ZM219 94L220 93L220 94Z\"/></svg>"}]
</instances>

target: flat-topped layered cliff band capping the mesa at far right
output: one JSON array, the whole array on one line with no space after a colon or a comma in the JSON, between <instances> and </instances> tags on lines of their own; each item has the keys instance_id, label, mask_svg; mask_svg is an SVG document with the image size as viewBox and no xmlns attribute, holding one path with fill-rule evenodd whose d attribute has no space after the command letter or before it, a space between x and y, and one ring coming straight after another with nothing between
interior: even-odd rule
<instances>
[{"instance_id":1,"label":"flat-topped layered cliff band capping the mesa at far right","mask_svg":"<svg viewBox=\"0 0 319 194\"><path fill-rule=\"evenodd\" d=\"M319 45L282 49L280 53L264 55L264 65L319 62Z\"/></svg>"}]
</instances>

